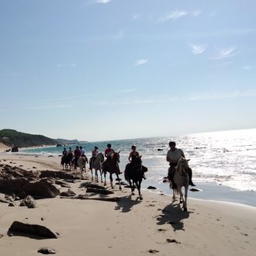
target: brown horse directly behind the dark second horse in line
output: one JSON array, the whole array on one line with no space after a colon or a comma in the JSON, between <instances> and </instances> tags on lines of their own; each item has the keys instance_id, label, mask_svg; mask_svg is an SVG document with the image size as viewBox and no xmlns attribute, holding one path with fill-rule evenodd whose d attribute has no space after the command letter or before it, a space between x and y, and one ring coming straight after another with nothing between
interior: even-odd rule
<instances>
[{"instance_id":1,"label":"brown horse directly behind the dark second horse in line","mask_svg":"<svg viewBox=\"0 0 256 256\"><path fill-rule=\"evenodd\" d=\"M121 185L120 185L120 179L119 179L119 165L118 163L120 162L119 158L119 152L115 152L112 154L111 156L111 160L106 160L103 164L102 164L102 171L104 173L104 178L105 178L105 182L104 185L106 185L106 173L107 171L109 172L109 179L110 179L110 185L111 188L113 189L113 178L112 178L112 174L115 174L118 182L119 182L119 189L121 190Z\"/></svg>"}]
</instances>

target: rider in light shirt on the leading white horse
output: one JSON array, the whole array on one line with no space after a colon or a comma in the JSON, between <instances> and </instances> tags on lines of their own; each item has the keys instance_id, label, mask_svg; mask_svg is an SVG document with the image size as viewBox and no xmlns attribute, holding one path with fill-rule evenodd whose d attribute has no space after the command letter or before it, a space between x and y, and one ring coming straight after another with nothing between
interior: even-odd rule
<instances>
[{"instance_id":1,"label":"rider in light shirt on the leading white horse","mask_svg":"<svg viewBox=\"0 0 256 256\"><path fill-rule=\"evenodd\" d=\"M176 147L175 141L169 142L170 150L168 150L166 161L169 162L170 168L168 169L168 179L171 180L171 183L174 184L174 177L175 177L175 167L178 164L178 160L181 157L185 157L184 152ZM189 168L188 170L189 174L189 185L195 186L195 184L192 182L192 169Z\"/></svg>"}]
</instances>

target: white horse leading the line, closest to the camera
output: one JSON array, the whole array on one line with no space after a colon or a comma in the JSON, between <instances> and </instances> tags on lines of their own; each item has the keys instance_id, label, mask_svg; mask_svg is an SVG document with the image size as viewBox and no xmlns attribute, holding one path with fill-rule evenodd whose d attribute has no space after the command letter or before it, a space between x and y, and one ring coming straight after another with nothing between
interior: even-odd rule
<instances>
[{"instance_id":1,"label":"white horse leading the line, closest to the camera","mask_svg":"<svg viewBox=\"0 0 256 256\"><path fill-rule=\"evenodd\" d=\"M188 161L185 159L185 157L181 157L178 160L178 164L175 167L175 176L174 176L174 182L175 184L172 185L170 182L170 189L171 185L173 187L173 195L172 199L175 201L175 194L180 195L180 202L183 202L183 209L186 212L187 211L187 197L188 197L188 190L189 190L189 174L188 171L186 171L189 168ZM182 187L185 188L185 200L183 198L182 193Z\"/></svg>"}]
</instances>

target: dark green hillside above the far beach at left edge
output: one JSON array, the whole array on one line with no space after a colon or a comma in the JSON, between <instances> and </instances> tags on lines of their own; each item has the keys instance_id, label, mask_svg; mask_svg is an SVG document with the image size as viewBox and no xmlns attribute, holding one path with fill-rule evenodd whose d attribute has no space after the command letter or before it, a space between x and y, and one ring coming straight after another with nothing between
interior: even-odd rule
<instances>
[{"instance_id":1,"label":"dark green hillside above the far beach at left edge","mask_svg":"<svg viewBox=\"0 0 256 256\"><path fill-rule=\"evenodd\" d=\"M0 130L0 142L9 147L12 147L12 145L16 145L17 147L34 147L57 144L57 140L43 135L20 133L10 129Z\"/></svg>"}]
</instances>

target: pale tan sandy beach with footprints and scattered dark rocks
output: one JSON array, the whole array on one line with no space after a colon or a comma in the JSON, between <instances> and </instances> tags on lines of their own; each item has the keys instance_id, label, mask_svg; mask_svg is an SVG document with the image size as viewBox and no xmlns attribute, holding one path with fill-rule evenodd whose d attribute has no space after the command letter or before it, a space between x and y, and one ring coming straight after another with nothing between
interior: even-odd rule
<instances>
[{"instance_id":1,"label":"pale tan sandy beach with footprints and scattered dark rocks","mask_svg":"<svg viewBox=\"0 0 256 256\"><path fill-rule=\"evenodd\" d=\"M3 151L3 149L2 149ZM61 157L0 154L0 163L26 170L61 170ZM87 175L85 177L88 177ZM71 183L85 194L85 180ZM108 184L109 185L109 184ZM67 188L61 188L67 191ZM35 255L51 247L58 255L254 255L256 208L229 202L188 199L183 212L170 195L130 189L110 189L117 202L97 200L36 200L36 208L0 202L0 254ZM57 232L57 239L7 235L12 222L40 224Z\"/></svg>"}]
</instances>

